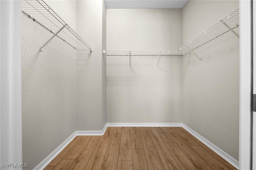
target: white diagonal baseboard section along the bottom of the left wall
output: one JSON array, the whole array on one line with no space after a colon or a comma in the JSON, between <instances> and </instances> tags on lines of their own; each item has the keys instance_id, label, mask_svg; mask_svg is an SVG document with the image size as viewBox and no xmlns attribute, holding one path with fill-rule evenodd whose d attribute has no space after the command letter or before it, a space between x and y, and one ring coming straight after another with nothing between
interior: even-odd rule
<instances>
[{"instance_id":1,"label":"white diagonal baseboard section along the bottom of the left wall","mask_svg":"<svg viewBox=\"0 0 256 170\"><path fill-rule=\"evenodd\" d=\"M33 170L44 169L74 138L76 137L76 132L71 134L60 146L58 146L52 153L50 153L40 164L38 164Z\"/></svg>"}]
</instances>

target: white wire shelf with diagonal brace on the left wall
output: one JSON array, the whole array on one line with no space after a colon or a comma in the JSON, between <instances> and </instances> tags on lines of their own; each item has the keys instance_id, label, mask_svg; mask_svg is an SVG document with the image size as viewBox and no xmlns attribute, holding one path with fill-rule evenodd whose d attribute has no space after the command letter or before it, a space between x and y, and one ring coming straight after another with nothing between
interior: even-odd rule
<instances>
[{"instance_id":1,"label":"white wire shelf with diagonal brace on the left wall","mask_svg":"<svg viewBox=\"0 0 256 170\"><path fill-rule=\"evenodd\" d=\"M41 26L52 32L54 36L58 36L64 42L68 43L75 49L89 49L91 47L80 37L76 32L58 16L43 0L22 0L22 12L28 17L32 18L35 22L38 22ZM42 47L50 42L48 40Z\"/></svg>"}]
</instances>

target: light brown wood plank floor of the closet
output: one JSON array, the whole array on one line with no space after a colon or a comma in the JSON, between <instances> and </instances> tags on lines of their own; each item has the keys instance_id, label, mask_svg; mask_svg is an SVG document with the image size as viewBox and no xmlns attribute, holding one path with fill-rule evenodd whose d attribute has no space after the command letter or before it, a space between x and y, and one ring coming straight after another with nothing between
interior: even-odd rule
<instances>
[{"instance_id":1,"label":"light brown wood plank floor of the closet","mask_svg":"<svg viewBox=\"0 0 256 170\"><path fill-rule=\"evenodd\" d=\"M76 136L45 170L233 170L182 127L108 127Z\"/></svg>"}]
</instances>

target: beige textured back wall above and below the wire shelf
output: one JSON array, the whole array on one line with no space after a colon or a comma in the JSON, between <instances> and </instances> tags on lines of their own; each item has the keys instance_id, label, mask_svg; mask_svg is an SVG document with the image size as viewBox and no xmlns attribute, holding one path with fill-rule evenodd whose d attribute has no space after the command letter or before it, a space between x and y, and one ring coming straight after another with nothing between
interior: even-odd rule
<instances>
[{"instance_id":1,"label":"beige textured back wall above and below the wire shelf","mask_svg":"<svg viewBox=\"0 0 256 170\"><path fill-rule=\"evenodd\" d=\"M108 50L172 50L182 45L182 10L107 9ZM182 57L108 56L107 122L180 123Z\"/></svg>"}]
</instances>

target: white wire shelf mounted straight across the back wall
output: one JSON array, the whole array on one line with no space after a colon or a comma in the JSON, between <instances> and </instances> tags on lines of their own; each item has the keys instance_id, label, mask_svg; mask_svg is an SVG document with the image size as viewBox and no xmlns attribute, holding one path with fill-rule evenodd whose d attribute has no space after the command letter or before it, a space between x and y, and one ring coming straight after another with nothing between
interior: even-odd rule
<instances>
[{"instance_id":1,"label":"white wire shelf mounted straight across the back wall","mask_svg":"<svg viewBox=\"0 0 256 170\"><path fill-rule=\"evenodd\" d=\"M163 56L163 55L183 55L184 53L188 53L189 51L175 51L175 50L152 50L152 51L133 51L133 50L125 50L125 51L114 51L114 50L106 50L103 53L106 53L106 56Z\"/></svg>"}]
</instances>

